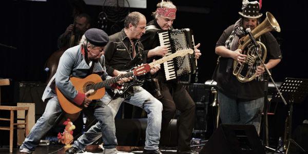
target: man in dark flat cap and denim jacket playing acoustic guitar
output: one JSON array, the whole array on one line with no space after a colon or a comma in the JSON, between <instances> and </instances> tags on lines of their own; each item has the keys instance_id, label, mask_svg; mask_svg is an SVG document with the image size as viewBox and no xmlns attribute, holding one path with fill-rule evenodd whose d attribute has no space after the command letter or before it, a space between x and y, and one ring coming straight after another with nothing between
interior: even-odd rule
<instances>
[{"instance_id":1,"label":"man in dark flat cap and denim jacket playing acoustic guitar","mask_svg":"<svg viewBox=\"0 0 308 154\"><path fill-rule=\"evenodd\" d=\"M31 153L40 143L40 140L45 136L46 132L51 129L56 119L61 114L62 108L55 93L55 86L65 95L67 99L78 106L93 110L94 117L98 120L95 126L99 127L104 136L113 133L109 128L109 123L114 123L112 112L106 105L93 107L100 100L90 100L89 92L83 93L75 89L69 80L70 76L77 78L85 78L87 75L96 73L103 80L111 78L106 73L104 64L104 48L108 43L108 35L100 29L89 29L82 36L80 45L67 49L60 58L59 66L53 78L48 83L42 100L47 103L45 112L42 117L37 120L31 132L26 137L24 143L20 147L21 153ZM119 84L129 81L128 78L123 78ZM91 128L88 130L91 131ZM87 136L87 132L78 140L85 141L91 136ZM115 141L104 141L106 148L108 145L113 145ZM83 142L79 142L78 146L82 146ZM75 144L73 145L75 146ZM79 149L78 149L79 150Z\"/></svg>"}]
</instances>

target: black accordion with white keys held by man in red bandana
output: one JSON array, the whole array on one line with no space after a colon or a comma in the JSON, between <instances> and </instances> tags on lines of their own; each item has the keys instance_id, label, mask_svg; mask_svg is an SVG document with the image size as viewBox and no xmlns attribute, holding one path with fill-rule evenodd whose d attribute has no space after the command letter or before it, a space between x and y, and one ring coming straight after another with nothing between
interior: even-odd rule
<instances>
[{"instance_id":1,"label":"black accordion with white keys held by man in red bandana","mask_svg":"<svg viewBox=\"0 0 308 154\"><path fill-rule=\"evenodd\" d=\"M194 50L194 37L191 30L186 29L169 29L168 31L158 32L160 45L168 47L168 53L172 54L178 50L192 49ZM195 51L192 54L187 53L183 57L175 57L174 59L164 63L164 71L166 81L179 79L182 75L196 73L197 61Z\"/></svg>"}]
</instances>

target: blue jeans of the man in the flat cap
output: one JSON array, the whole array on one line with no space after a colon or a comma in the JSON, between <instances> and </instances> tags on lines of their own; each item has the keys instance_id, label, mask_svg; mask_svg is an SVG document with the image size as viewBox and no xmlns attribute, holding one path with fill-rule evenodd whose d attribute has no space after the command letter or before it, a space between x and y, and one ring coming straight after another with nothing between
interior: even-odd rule
<instances>
[{"instance_id":1,"label":"blue jeans of the man in the flat cap","mask_svg":"<svg viewBox=\"0 0 308 154\"><path fill-rule=\"evenodd\" d=\"M43 113L42 117L37 120L37 122L31 129L29 135L26 137L25 141L21 145L20 151L28 153L34 151L35 147L40 143L40 140L45 136L47 131L51 129L55 120L61 114L61 112L62 108L59 104L57 97L49 99L45 108L45 112ZM112 127L112 125L109 126L109 123L114 123L114 119L112 117L111 110L108 106L95 108L94 116L99 121L94 126L99 125L100 126L99 128L101 128L102 130L101 133L109 134L114 132L115 127ZM89 136L88 138L91 138L91 136ZM105 143L107 147L108 146L115 147L117 145L117 140L110 141L107 138Z\"/></svg>"}]
</instances>

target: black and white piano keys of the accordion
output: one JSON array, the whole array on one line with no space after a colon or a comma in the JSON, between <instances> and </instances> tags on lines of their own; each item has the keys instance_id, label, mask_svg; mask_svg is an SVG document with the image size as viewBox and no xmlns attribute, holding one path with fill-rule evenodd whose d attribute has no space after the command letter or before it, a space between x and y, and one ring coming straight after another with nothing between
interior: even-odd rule
<instances>
[{"instance_id":1,"label":"black and white piano keys of the accordion","mask_svg":"<svg viewBox=\"0 0 308 154\"><path fill-rule=\"evenodd\" d=\"M160 45L167 46L168 53L166 54L166 56L172 54L168 31L159 33L159 42L160 42ZM167 81L177 78L175 64L173 60L165 62L164 69L165 69L165 75L166 75Z\"/></svg>"}]
</instances>

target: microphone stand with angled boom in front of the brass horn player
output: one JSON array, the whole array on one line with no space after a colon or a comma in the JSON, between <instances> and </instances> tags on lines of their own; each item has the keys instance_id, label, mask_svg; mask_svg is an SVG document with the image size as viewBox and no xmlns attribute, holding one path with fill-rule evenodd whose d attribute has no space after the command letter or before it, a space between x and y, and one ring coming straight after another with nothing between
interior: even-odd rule
<instances>
[{"instance_id":1,"label":"microphone stand with angled boom in front of the brass horn player","mask_svg":"<svg viewBox=\"0 0 308 154\"><path fill-rule=\"evenodd\" d=\"M254 48L255 53L257 54L258 59L260 60L260 62L261 62L261 64L262 64L262 66L264 67L266 73L268 74L269 79L271 79L271 81L273 82L273 84L274 84L276 90L278 91L278 93L279 93L279 95L280 95L280 97L281 97L281 100L282 100L282 102L284 103L284 105L287 105L285 99L283 98L283 96L282 96L280 90L279 90L278 87L277 87L277 84L275 83L275 81L274 81L273 78L272 78L271 72L269 72L269 70L267 69L266 65L263 63L263 61L262 61L262 59L261 59L261 56L260 56L259 53L258 53L258 50L257 50L257 49L258 49L258 46L259 46L259 45L257 44L255 37L254 37L253 34L251 33L250 28L247 28L247 29L246 29L246 32L248 33L248 35L249 35L249 37L251 38L251 40L252 40L252 42L254 43L254 45L256 46L256 47ZM268 100L267 100L267 86L268 86L268 85L266 85L266 82L265 82L265 90L264 90L264 111L263 111L263 145L264 145L266 148L271 149L271 148L269 148L269 147L266 146L266 145L267 145L267 139L266 139L266 123L267 123L267 121L266 121L266 120L267 120L267 104L268 104L268 103L267 103L267 101L268 101Z\"/></svg>"}]
</instances>

